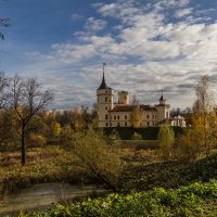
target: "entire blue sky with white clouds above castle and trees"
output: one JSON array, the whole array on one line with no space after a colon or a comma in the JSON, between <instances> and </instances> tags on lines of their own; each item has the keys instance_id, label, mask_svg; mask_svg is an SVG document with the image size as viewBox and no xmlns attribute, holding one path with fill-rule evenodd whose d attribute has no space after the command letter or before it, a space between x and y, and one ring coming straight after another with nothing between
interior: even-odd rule
<instances>
[{"instance_id":1,"label":"entire blue sky with white clouds above castle and trees","mask_svg":"<svg viewBox=\"0 0 217 217\"><path fill-rule=\"evenodd\" d=\"M107 85L142 104L164 92L192 106L202 75L216 91L215 0L0 0L0 71L37 77L53 108L91 107L103 62Z\"/></svg>"}]
</instances>

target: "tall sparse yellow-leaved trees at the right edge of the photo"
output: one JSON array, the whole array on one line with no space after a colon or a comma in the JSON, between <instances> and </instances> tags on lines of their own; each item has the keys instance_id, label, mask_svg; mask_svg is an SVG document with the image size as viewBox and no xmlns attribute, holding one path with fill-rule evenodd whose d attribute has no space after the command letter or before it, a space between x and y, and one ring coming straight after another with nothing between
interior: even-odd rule
<instances>
[{"instance_id":1,"label":"tall sparse yellow-leaved trees at the right edge of the photo","mask_svg":"<svg viewBox=\"0 0 217 217\"><path fill-rule=\"evenodd\" d=\"M195 93L192 127L179 142L179 154L186 161L194 161L204 153L208 155L217 143L217 115L207 75L201 77L195 87Z\"/></svg>"}]
</instances>

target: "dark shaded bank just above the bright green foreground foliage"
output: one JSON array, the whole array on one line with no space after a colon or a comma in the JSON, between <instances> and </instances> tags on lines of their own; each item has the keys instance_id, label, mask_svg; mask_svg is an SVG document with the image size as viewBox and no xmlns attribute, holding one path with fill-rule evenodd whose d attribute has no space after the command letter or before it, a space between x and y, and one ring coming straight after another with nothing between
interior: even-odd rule
<instances>
[{"instance_id":1,"label":"dark shaded bank just above the bright green foreground foliage","mask_svg":"<svg viewBox=\"0 0 217 217\"><path fill-rule=\"evenodd\" d=\"M155 187L178 188L196 181L217 179L217 153L191 164L176 161L152 164L128 164L119 186L128 190L150 190Z\"/></svg>"}]
</instances>

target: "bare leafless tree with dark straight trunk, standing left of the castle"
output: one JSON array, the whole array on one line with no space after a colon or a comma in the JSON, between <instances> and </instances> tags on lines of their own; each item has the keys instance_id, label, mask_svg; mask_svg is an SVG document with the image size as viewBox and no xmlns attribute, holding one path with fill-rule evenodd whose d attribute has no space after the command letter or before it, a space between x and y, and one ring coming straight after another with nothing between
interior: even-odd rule
<instances>
[{"instance_id":1,"label":"bare leafless tree with dark straight trunk, standing left of the castle","mask_svg":"<svg viewBox=\"0 0 217 217\"><path fill-rule=\"evenodd\" d=\"M14 76L11 81L11 103L21 126L22 165L26 164L26 129L33 117L53 99L51 91L42 91L36 78L22 79Z\"/></svg>"}]
</instances>

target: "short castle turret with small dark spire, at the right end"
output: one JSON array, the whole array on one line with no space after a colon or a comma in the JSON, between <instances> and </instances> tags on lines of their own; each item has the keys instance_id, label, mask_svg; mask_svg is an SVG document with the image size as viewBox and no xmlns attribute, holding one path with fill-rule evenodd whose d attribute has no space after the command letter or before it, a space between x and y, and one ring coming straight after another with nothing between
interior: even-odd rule
<instances>
[{"instance_id":1,"label":"short castle turret with small dark spire, at the right end","mask_svg":"<svg viewBox=\"0 0 217 217\"><path fill-rule=\"evenodd\" d=\"M156 105L157 110L157 123L169 119L169 104L166 104L166 100L164 99L164 95L162 93L162 97L159 98L159 104Z\"/></svg>"}]
</instances>

